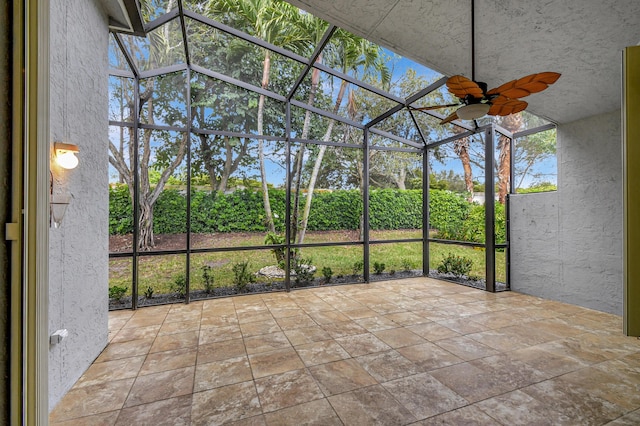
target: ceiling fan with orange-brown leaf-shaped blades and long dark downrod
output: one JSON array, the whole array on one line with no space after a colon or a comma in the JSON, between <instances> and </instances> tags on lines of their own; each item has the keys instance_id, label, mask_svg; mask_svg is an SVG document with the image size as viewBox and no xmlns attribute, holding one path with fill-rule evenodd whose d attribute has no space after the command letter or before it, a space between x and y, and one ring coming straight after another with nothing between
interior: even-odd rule
<instances>
[{"instance_id":1,"label":"ceiling fan with orange-brown leaf-shaped blades and long dark downrod","mask_svg":"<svg viewBox=\"0 0 640 426\"><path fill-rule=\"evenodd\" d=\"M459 102L414 108L418 111L427 111L460 106L455 112L445 117L440 124L457 119L476 120L487 114L505 116L524 111L528 104L519 98L541 92L560 78L560 74L557 72L541 72L512 80L491 90L487 90L486 83L476 81L474 3L475 1L471 0L471 79L462 75L454 75L446 82L447 89L459 99Z\"/></svg>"}]
</instances>

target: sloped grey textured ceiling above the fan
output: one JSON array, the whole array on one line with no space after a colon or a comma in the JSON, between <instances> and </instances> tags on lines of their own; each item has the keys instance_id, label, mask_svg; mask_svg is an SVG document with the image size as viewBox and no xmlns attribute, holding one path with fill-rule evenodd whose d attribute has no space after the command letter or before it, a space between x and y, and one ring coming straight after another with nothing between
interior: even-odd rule
<instances>
[{"instance_id":1,"label":"sloped grey textured ceiling above the fan","mask_svg":"<svg viewBox=\"0 0 640 426\"><path fill-rule=\"evenodd\" d=\"M287 0L445 75L471 77L471 0ZM562 77L528 110L567 123L620 108L621 52L640 0L476 0L476 80Z\"/></svg>"}]
</instances>

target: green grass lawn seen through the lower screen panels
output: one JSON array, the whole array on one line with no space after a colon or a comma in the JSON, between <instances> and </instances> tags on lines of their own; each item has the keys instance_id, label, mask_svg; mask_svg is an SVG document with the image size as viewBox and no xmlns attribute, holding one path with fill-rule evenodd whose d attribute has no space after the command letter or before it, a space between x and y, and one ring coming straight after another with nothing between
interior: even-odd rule
<instances>
[{"instance_id":1,"label":"green grass lawn seen through the lower screen panels","mask_svg":"<svg viewBox=\"0 0 640 426\"><path fill-rule=\"evenodd\" d=\"M223 236L225 241L233 234ZM419 238L421 231L374 231L372 239L401 239ZM212 236L215 238L216 236ZM357 233L345 233L342 231L308 233L305 242L328 242L328 241L357 241ZM264 234L242 234L233 236L234 246L257 246L264 244ZM211 246L215 246L215 241ZM471 247L431 243L430 269L436 269L442 259L449 253L464 256L472 260L473 266L470 275L484 277L485 275L485 252L484 249L474 249ZM316 266L316 277L322 276L323 268L331 268L333 277L362 274L362 270L357 269L357 264L362 262L362 246L332 246L313 247L301 250L303 259L310 259ZM204 289L203 267L211 267L211 274L214 277L215 287L226 287L234 285L233 266L240 262L248 262L250 272L254 273L264 266L275 264L275 256L269 249L226 251L218 253L196 253L191 254L190 265L190 285L194 290ZM370 265L373 274L374 263L384 264L385 272L391 270L402 271L405 269L422 268L422 243L389 243L370 245ZM109 259L109 286L124 286L131 294L131 258ZM504 282L506 280L505 254L496 253L496 279ZM139 293L151 287L154 294L172 292L178 277L186 274L186 255L168 254L155 256L141 256L138 265Z\"/></svg>"}]
</instances>

